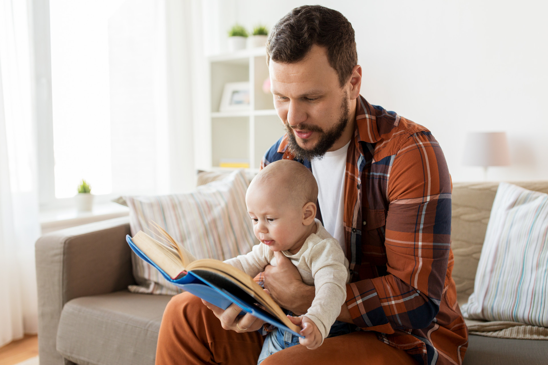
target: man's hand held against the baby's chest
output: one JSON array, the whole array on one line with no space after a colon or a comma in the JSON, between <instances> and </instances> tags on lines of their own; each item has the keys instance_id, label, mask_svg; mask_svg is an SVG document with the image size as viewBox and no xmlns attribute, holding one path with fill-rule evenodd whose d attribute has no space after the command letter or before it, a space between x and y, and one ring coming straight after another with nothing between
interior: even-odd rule
<instances>
[{"instance_id":1,"label":"man's hand held against the baby's chest","mask_svg":"<svg viewBox=\"0 0 548 365\"><path fill-rule=\"evenodd\" d=\"M276 266L265 267L265 288L282 308L305 314L315 297L315 287L302 282L296 266L281 252L274 252Z\"/></svg>"}]
</instances>

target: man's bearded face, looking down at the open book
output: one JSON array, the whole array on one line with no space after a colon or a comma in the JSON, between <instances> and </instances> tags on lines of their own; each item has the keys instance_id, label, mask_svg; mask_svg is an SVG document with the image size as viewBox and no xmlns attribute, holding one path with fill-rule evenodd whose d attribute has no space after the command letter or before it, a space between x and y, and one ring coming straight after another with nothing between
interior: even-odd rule
<instances>
[{"instance_id":1,"label":"man's bearded face, looking down at the open book","mask_svg":"<svg viewBox=\"0 0 548 365\"><path fill-rule=\"evenodd\" d=\"M270 61L274 106L297 158L322 157L349 122L349 96L341 88L327 50L313 45L296 63Z\"/></svg>"}]
</instances>

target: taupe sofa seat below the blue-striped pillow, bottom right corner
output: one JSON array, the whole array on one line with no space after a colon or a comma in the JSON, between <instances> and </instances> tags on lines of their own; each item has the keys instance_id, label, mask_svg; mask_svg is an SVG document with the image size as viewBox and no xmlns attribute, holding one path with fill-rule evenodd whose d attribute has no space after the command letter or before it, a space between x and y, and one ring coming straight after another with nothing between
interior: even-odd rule
<instances>
[{"instance_id":1,"label":"taupe sofa seat below the blue-striped pillow, bottom right corner","mask_svg":"<svg viewBox=\"0 0 548 365\"><path fill-rule=\"evenodd\" d=\"M547 357L548 341L470 335L463 365L544 364Z\"/></svg>"}]
</instances>

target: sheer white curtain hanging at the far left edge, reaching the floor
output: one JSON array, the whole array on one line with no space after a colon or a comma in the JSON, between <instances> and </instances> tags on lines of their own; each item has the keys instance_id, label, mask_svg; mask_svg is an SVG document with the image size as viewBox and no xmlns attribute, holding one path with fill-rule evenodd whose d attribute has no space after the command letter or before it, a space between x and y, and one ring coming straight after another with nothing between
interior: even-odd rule
<instances>
[{"instance_id":1,"label":"sheer white curtain hanging at the far left edge, reaching the floor","mask_svg":"<svg viewBox=\"0 0 548 365\"><path fill-rule=\"evenodd\" d=\"M38 328L30 10L25 0L0 0L0 346Z\"/></svg>"}]
</instances>

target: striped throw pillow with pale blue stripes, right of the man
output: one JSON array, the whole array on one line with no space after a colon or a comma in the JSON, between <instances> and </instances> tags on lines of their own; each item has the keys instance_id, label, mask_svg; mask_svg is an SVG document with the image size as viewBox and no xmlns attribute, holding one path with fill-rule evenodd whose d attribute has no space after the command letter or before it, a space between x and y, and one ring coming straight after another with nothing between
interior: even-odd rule
<instances>
[{"instance_id":1,"label":"striped throw pillow with pale blue stripes, right of the man","mask_svg":"<svg viewBox=\"0 0 548 365\"><path fill-rule=\"evenodd\" d=\"M548 194L500 183L462 310L471 319L548 327Z\"/></svg>"}]
</instances>

